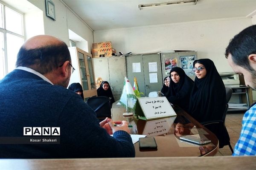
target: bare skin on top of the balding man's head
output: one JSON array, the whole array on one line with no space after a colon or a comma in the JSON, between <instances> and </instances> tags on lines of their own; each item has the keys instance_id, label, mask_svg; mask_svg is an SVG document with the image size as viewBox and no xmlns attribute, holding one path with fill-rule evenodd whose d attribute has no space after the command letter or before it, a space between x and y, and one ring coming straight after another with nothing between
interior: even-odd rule
<instances>
[{"instance_id":1,"label":"bare skin on top of the balding man's head","mask_svg":"<svg viewBox=\"0 0 256 170\"><path fill-rule=\"evenodd\" d=\"M25 48L26 50L30 49L36 49L36 48L42 48L42 47L47 47L50 45L60 45L63 43L61 40L58 38L55 38L50 35L37 35L35 37L30 38L27 40L22 47Z\"/></svg>"}]
</instances>

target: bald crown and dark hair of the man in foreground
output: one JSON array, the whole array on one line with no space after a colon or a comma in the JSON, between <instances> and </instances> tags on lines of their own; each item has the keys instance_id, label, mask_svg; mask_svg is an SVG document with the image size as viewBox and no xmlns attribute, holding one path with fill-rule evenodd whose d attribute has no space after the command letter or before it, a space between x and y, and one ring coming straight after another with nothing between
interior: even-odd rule
<instances>
[{"instance_id":1,"label":"bald crown and dark hair of the man in foreground","mask_svg":"<svg viewBox=\"0 0 256 170\"><path fill-rule=\"evenodd\" d=\"M34 69L46 74L70 61L67 45L58 38L50 35L37 35L27 40L17 55L16 66Z\"/></svg>"}]
</instances>

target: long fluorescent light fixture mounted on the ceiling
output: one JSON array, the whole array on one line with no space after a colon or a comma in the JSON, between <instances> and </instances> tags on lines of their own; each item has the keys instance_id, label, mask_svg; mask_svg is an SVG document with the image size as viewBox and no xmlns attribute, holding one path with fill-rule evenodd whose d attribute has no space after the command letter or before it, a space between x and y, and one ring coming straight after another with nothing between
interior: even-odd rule
<instances>
[{"instance_id":1,"label":"long fluorescent light fixture mounted on the ceiling","mask_svg":"<svg viewBox=\"0 0 256 170\"><path fill-rule=\"evenodd\" d=\"M174 5L195 5L198 0L175 0L166 3L148 3L148 4L139 4L140 10L150 9L155 7L166 7Z\"/></svg>"}]
</instances>

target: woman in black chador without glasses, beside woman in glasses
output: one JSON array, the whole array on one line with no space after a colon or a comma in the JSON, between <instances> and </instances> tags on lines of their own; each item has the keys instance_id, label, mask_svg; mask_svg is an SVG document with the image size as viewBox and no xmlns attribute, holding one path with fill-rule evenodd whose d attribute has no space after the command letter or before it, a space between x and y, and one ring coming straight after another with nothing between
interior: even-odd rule
<instances>
[{"instance_id":1,"label":"woman in black chador without glasses, beside woman in glasses","mask_svg":"<svg viewBox=\"0 0 256 170\"><path fill-rule=\"evenodd\" d=\"M189 108L189 96L194 81L190 79L182 68L174 67L170 71L169 92L166 98L172 104L180 106L184 111Z\"/></svg>"}]
</instances>

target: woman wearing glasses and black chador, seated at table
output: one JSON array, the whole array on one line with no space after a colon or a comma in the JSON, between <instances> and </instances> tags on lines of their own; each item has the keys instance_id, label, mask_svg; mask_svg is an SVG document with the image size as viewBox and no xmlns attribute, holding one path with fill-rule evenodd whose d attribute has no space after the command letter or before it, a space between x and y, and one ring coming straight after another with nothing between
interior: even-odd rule
<instances>
[{"instance_id":1,"label":"woman wearing glasses and black chador, seated at table","mask_svg":"<svg viewBox=\"0 0 256 170\"><path fill-rule=\"evenodd\" d=\"M210 59L195 60L193 67L196 77L189 114L198 122L221 120L226 107L226 90L221 76Z\"/></svg>"}]
</instances>

